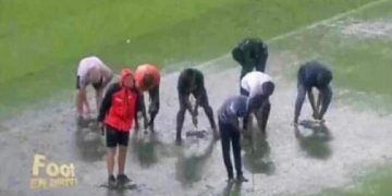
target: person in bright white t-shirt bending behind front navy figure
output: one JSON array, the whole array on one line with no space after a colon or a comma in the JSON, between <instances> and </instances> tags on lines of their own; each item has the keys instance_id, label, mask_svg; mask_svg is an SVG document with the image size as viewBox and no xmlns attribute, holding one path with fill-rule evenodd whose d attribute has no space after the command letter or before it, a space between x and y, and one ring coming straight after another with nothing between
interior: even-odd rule
<instances>
[{"instance_id":1,"label":"person in bright white t-shirt bending behind front navy figure","mask_svg":"<svg viewBox=\"0 0 392 196\"><path fill-rule=\"evenodd\" d=\"M271 110L269 97L274 90L272 77L262 72L247 73L241 81L241 95L249 97L248 108L257 119L261 133L266 136L266 126ZM246 130L249 117L244 118L243 128Z\"/></svg>"}]
</instances>

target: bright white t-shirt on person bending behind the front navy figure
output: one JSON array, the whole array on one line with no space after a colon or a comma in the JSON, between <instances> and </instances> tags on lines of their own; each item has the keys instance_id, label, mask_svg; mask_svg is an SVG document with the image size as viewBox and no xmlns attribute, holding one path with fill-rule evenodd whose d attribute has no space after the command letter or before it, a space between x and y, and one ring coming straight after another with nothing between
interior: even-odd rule
<instances>
[{"instance_id":1,"label":"bright white t-shirt on person bending behind the front navy figure","mask_svg":"<svg viewBox=\"0 0 392 196\"><path fill-rule=\"evenodd\" d=\"M249 93L249 97L262 94L262 84L266 82L272 82L272 77L262 72L254 71L247 73L241 79L241 87Z\"/></svg>"}]
</instances>

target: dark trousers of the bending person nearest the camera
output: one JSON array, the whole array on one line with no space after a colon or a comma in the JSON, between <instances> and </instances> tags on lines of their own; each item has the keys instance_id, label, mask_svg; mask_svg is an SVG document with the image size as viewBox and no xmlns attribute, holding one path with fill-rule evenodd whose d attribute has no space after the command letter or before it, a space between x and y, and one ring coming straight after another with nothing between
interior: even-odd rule
<instances>
[{"instance_id":1,"label":"dark trousers of the bending person nearest the camera","mask_svg":"<svg viewBox=\"0 0 392 196\"><path fill-rule=\"evenodd\" d=\"M242 175L242 159L241 159L241 144L240 144L240 131L230 123L219 121L219 132L221 135L223 162L228 171L228 177L232 179L233 166L230 158L230 145L233 148L234 164L237 176Z\"/></svg>"}]
</instances>

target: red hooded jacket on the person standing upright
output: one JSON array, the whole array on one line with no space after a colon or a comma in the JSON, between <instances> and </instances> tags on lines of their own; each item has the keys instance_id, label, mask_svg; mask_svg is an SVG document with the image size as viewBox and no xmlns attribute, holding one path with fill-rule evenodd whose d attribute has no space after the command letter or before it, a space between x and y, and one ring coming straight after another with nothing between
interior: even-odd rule
<instances>
[{"instance_id":1,"label":"red hooded jacket on the person standing upright","mask_svg":"<svg viewBox=\"0 0 392 196\"><path fill-rule=\"evenodd\" d=\"M126 76L132 76L131 70L122 70L120 83L112 84L106 93L100 107L98 121L105 121L120 132L130 132L136 117L138 106L138 91L123 85Z\"/></svg>"}]
</instances>

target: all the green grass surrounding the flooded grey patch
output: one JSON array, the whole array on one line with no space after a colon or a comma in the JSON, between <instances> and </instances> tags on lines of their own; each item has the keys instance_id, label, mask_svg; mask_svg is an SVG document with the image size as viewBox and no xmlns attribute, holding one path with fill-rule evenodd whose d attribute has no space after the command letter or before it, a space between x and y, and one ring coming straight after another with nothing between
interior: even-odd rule
<instances>
[{"instance_id":1,"label":"all the green grass surrounding the flooded grey patch","mask_svg":"<svg viewBox=\"0 0 392 196\"><path fill-rule=\"evenodd\" d=\"M268 40L272 56L295 57L281 73L289 81L301 62L321 60L333 85L350 91L339 101L389 115L391 9L389 0L0 0L0 117L69 101L85 56L114 71L144 62L171 71L225 54L248 36ZM333 19L341 13L348 14ZM318 25L303 28L310 24ZM391 195L391 183L387 163L320 195Z\"/></svg>"}]
</instances>

